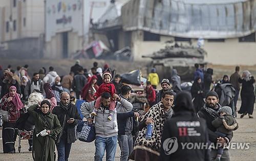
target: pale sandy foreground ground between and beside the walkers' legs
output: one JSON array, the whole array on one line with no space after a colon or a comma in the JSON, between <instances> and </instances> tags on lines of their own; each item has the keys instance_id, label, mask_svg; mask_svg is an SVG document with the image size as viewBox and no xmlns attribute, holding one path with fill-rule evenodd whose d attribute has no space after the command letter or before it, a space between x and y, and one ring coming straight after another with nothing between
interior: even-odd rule
<instances>
[{"instance_id":1,"label":"pale sandy foreground ground between and beside the walkers' legs","mask_svg":"<svg viewBox=\"0 0 256 161\"><path fill-rule=\"evenodd\" d=\"M240 105L240 102L239 102ZM256 158L256 114L253 114L254 119L248 119L245 116L243 119L238 118L239 129L234 131L232 142L245 142L249 143L249 149L232 149L229 150L230 160L240 161L247 160L253 161ZM2 130L0 131L2 136ZM16 151L18 151L18 142L15 143ZM95 146L94 143L84 143L76 141L72 145L69 160L94 160ZM117 146L115 160L120 159L120 148ZM20 153L16 154L3 154L3 145L0 144L0 160L33 160L32 153L28 151L28 141L22 140L22 149ZM105 159L104 159L105 160Z\"/></svg>"}]
</instances>

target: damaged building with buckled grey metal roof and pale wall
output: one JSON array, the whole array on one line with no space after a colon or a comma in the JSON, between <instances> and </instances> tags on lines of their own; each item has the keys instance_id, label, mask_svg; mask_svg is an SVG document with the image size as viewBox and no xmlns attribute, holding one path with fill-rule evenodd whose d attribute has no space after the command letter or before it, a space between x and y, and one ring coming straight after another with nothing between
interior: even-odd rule
<instances>
[{"instance_id":1,"label":"damaged building with buckled grey metal roof and pale wall","mask_svg":"<svg viewBox=\"0 0 256 161\"><path fill-rule=\"evenodd\" d=\"M113 4L93 26L93 38L113 51L130 47L133 60L145 60L142 55L163 49L166 41L197 45L200 38L207 62L256 62L254 0L131 0L123 5L120 16L115 10Z\"/></svg>"}]
</instances>

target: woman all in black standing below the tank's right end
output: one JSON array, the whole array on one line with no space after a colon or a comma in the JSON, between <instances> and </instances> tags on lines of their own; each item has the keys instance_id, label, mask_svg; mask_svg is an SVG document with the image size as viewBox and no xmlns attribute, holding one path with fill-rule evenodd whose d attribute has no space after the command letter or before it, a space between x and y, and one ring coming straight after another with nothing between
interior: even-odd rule
<instances>
[{"instance_id":1,"label":"woman all in black standing below the tank's right end","mask_svg":"<svg viewBox=\"0 0 256 161\"><path fill-rule=\"evenodd\" d=\"M200 110L204 105L204 90L203 84L201 83L201 78L197 77L195 82L191 87L191 95L193 100L193 105L195 107L196 112Z\"/></svg>"}]
</instances>

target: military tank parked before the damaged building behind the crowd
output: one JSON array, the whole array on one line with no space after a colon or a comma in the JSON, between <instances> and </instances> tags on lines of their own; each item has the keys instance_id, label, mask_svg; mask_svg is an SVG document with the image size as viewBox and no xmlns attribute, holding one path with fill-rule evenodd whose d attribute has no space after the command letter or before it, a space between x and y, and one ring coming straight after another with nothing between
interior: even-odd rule
<instances>
[{"instance_id":1,"label":"military tank parked before the damaged building behind the crowd","mask_svg":"<svg viewBox=\"0 0 256 161\"><path fill-rule=\"evenodd\" d=\"M168 45L165 49L160 49L152 55L142 56L144 58L152 58L152 62L147 66L147 72L151 72L151 68L155 67L159 75L159 79L170 79L172 77L172 69L175 68L182 81L193 80L195 63L205 65L204 56L206 51L192 45L182 46Z\"/></svg>"}]
</instances>

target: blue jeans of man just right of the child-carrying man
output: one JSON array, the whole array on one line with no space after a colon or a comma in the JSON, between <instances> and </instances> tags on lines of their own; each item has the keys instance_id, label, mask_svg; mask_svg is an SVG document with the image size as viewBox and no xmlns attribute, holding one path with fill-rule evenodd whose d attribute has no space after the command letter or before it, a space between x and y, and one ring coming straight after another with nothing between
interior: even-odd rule
<instances>
[{"instance_id":1,"label":"blue jeans of man just right of the child-carrying man","mask_svg":"<svg viewBox=\"0 0 256 161\"><path fill-rule=\"evenodd\" d=\"M118 135L118 144L121 149L121 161L127 161L133 151L133 135Z\"/></svg>"}]
</instances>

